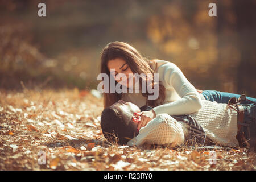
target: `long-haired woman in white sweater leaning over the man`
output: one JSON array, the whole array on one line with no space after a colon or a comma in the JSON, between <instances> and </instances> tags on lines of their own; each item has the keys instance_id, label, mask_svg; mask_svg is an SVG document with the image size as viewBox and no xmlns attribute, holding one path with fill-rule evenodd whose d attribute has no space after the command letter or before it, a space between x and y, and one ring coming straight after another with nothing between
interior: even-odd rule
<instances>
[{"instance_id":1,"label":"long-haired woman in white sweater leaning over the man","mask_svg":"<svg viewBox=\"0 0 256 182\"><path fill-rule=\"evenodd\" d=\"M110 73L110 71L112 72ZM142 57L141 53L133 46L125 42L116 41L106 45L101 55L101 73L106 73L109 79L114 77L115 85L122 81L122 85L127 88L134 84L130 84L130 80L117 79L115 76L119 73L123 73L127 77L132 73L150 73L152 78L154 78L154 73L158 73L159 84L158 82L152 84L152 87L158 86L159 88L159 97L155 100L148 99L148 96L151 95L148 90L146 90L146 93L141 92L142 90L140 90L140 93L104 93L104 108L120 99L133 102L138 107L144 105L153 107L150 111L137 113L141 116L138 130L146 126L157 114L183 115L195 113L202 107L201 100L210 100L209 94L214 94L214 92L208 93L208 90L206 92L208 96L205 95L204 97L203 94L197 92L175 64L163 60L148 60ZM145 79L150 78L146 77ZM141 85L142 80L139 83ZM110 81L108 88L110 89ZM214 99L214 97L212 98Z\"/></svg>"}]
</instances>

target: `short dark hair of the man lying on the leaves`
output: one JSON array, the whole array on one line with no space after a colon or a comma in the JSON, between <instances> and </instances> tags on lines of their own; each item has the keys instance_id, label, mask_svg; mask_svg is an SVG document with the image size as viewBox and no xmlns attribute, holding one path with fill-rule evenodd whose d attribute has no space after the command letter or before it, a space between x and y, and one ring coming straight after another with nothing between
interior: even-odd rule
<instances>
[{"instance_id":1,"label":"short dark hair of the man lying on the leaves","mask_svg":"<svg viewBox=\"0 0 256 182\"><path fill-rule=\"evenodd\" d=\"M104 137L109 142L127 144L135 137L136 132L136 127L132 125L130 119L124 117L122 111L113 107L104 109L101 113L101 129Z\"/></svg>"}]
</instances>

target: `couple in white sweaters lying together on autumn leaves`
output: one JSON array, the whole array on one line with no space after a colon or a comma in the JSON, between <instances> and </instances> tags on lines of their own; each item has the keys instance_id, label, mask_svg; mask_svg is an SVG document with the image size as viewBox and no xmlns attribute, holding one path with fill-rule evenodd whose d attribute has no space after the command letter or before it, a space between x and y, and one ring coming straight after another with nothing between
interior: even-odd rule
<instances>
[{"instance_id":1,"label":"couple in white sweaters lying together on autumn leaves","mask_svg":"<svg viewBox=\"0 0 256 182\"><path fill-rule=\"evenodd\" d=\"M119 144L141 145L186 144L224 146L254 145L255 98L215 90L196 90L174 64L164 60L148 60L125 42L108 43L101 55L101 73L108 75L106 88L121 83L133 88L135 73L158 75L159 97L150 93L104 93L101 127L109 140ZM118 77L126 75L127 80ZM148 79L146 77L146 79ZM153 79L154 80L154 79ZM104 80L105 81L105 80ZM141 85L141 80L138 82ZM141 91L141 90L140 90ZM235 98L232 98L235 97ZM229 102L230 100L230 102ZM229 104L228 104L229 102ZM249 142L248 142L249 141Z\"/></svg>"}]
</instances>

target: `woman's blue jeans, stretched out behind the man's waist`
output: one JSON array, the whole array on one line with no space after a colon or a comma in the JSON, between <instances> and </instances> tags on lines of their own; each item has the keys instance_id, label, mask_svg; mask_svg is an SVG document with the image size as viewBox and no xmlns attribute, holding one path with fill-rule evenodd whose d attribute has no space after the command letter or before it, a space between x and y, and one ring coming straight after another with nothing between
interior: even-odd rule
<instances>
[{"instance_id":1,"label":"woman's blue jeans, stretched out behind the man's waist","mask_svg":"<svg viewBox=\"0 0 256 182\"><path fill-rule=\"evenodd\" d=\"M203 96L206 100L208 101L216 101L217 103L226 103L228 104L229 99L232 97L236 97L237 100L241 96L239 94L234 94L234 93L228 93L228 92L220 92L216 90L204 90L203 91ZM256 98L253 97L247 97L250 101L256 102ZM241 104L250 104L250 101L244 101Z\"/></svg>"}]
</instances>

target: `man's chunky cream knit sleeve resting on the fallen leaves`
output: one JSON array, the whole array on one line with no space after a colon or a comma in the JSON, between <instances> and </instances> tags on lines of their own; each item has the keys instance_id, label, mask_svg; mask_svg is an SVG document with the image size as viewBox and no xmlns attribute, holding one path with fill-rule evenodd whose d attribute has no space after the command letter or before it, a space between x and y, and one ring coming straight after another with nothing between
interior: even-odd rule
<instances>
[{"instance_id":1,"label":"man's chunky cream knit sleeve resting on the fallen leaves","mask_svg":"<svg viewBox=\"0 0 256 182\"><path fill-rule=\"evenodd\" d=\"M172 144L172 146L184 143L183 128L174 118L168 114L159 114L146 126L139 130L139 134L131 139L128 146L141 146L148 144Z\"/></svg>"}]
</instances>

